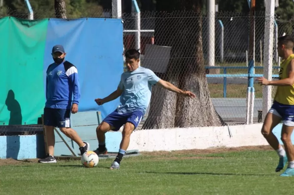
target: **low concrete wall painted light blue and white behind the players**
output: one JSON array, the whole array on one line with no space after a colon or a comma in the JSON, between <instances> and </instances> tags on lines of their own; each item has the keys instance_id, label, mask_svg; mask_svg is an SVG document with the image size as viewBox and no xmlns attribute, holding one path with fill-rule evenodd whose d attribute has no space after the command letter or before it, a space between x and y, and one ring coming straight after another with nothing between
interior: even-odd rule
<instances>
[{"instance_id":1,"label":"low concrete wall painted light blue and white behind the players","mask_svg":"<svg viewBox=\"0 0 294 195\"><path fill-rule=\"evenodd\" d=\"M138 130L132 133L128 150L171 151L185 149L207 149L211 147L239 147L248 145L268 145L260 133L262 124L223 127L193 127L174 129ZM281 142L282 125L273 133ZM229 133L230 129L230 133ZM95 131L86 131L94 136ZM231 136L230 136L231 135ZM55 134L55 136L57 136ZM294 143L294 135L292 135ZM121 132L106 133L106 147L109 152L118 152L122 139ZM96 139L87 140L90 149L98 147ZM74 143L75 144L75 143ZM43 135L0 136L0 158L41 158L45 154ZM71 155L63 142L56 142L55 155Z\"/></svg>"}]
</instances>

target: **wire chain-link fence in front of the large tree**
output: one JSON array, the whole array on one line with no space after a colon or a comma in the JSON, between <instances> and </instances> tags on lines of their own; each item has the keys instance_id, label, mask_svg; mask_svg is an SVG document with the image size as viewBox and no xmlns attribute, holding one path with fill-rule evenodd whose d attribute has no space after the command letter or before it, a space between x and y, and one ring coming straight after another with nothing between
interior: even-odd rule
<instances>
[{"instance_id":1,"label":"wire chain-link fence in front of the large tree","mask_svg":"<svg viewBox=\"0 0 294 195\"><path fill-rule=\"evenodd\" d=\"M54 17L54 13L34 12L35 19ZM40 14L38 14L40 13ZM82 13L82 12L81 12ZM5 13L26 18L28 13ZM124 48L141 52L141 66L149 68L173 85L190 90L195 99L183 98L158 86L152 89L151 103L140 128L158 129L190 126L244 124L248 86L249 14L216 13L210 22L207 14L192 11L141 12L123 14ZM87 11L84 17L111 18L111 11ZM68 18L79 18L70 15ZM292 33L288 22L276 21L278 35ZM215 25L214 40L209 25ZM292 24L292 23L291 23ZM255 16L255 69L263 73L265 13ZM285 30L284 30L285 29ZM276 32L276 30L275 30ZM209 44L215 48L209 50ZM274 42L275 43L275 42ZM209 53L213 51L212 53ZM273 66L278 66L274 45ZM208 66L213 57L214 68ZM279 70L273 69L273 74ZM209 76L206 77L206 74ZM232 77L224 77L226 74ZM254 122L262 110L262 86L254 83ZM274 89L274 88L273 88ZM272 90L273 93L275 90Z\"/></svg>"}]
</instances>

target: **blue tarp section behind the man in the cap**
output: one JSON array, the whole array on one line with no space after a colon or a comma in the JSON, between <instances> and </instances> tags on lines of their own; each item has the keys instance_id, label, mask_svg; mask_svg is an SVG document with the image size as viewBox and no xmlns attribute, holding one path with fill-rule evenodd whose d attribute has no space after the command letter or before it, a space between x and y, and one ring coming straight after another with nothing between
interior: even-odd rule
<instances>
[{"instance_id":1,"label":"blue tarp section behind the man in the cap","mask_svg":"<svg viewBox=\"0 0 294 195\"><path fill-rule=\"evenodd\" d=\"M52 47L64 46L65 59L78 69L81 87L79 111L99 110L102 119L119 104L119 98L98 106L94 99L104 98L117 89L123 72L123 26L120 19L81 18L51 19L48 23L43 64L46 70L53 62Z\"/></svg>"}]
</instances>

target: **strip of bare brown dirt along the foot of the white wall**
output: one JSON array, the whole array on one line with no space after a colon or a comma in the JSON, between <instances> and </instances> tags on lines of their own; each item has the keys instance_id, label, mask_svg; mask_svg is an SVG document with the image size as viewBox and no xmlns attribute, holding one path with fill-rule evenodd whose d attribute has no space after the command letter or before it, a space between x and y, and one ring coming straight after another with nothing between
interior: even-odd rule
<instances>
[{"instance_id":1,"label":"strip of bare brown dirt along the foot of the white wall","mask_svg":"<svg viewBox=\"0 0 294 195\"><path fill-rule=\"evenodd\" d=\"M246 150L272 150L269 145L258 145L258 146L242 146L234 148L209 148L209 149L194 149L194 150L177 150L177 151L157 151L157 152L140 152L143 155L159 156L159 155L203 155L203 154L215 154L224 152L241 152Z\"/></svg>"}]
</instances>

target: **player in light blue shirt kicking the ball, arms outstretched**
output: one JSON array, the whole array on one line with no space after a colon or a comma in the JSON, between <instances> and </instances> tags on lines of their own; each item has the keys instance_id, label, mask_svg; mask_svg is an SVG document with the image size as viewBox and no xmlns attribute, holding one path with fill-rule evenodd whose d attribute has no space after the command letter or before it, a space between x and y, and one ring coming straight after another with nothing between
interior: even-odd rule
<instances>
[{"instance_id":1,"label":"player in light blue shirt kicking the ball, arms outstretched","mask_svg":"<svg viewBox=\"0 0 294 195\"><path fill-rule=\"evenodd\" d=\"M140 53L137 50L130 49L126 51L125 62L128 71L122 73L118 88L106 98L95 99L98 105L102 105L120 97L120 104L117 109L110 113L96 129L99 148L94 152L98 155L107 154L105 133L109 130L118 131L125 125L122 130L119 153L110 169L119 168L122 157L128 149L131 133L141 122L149 105L152 85L159 85L180 95L195 98L195 94L191 91L182 91L171 83L158 78L150 69L139 66L139 59Z\"/></svg>"}]
</instances>

